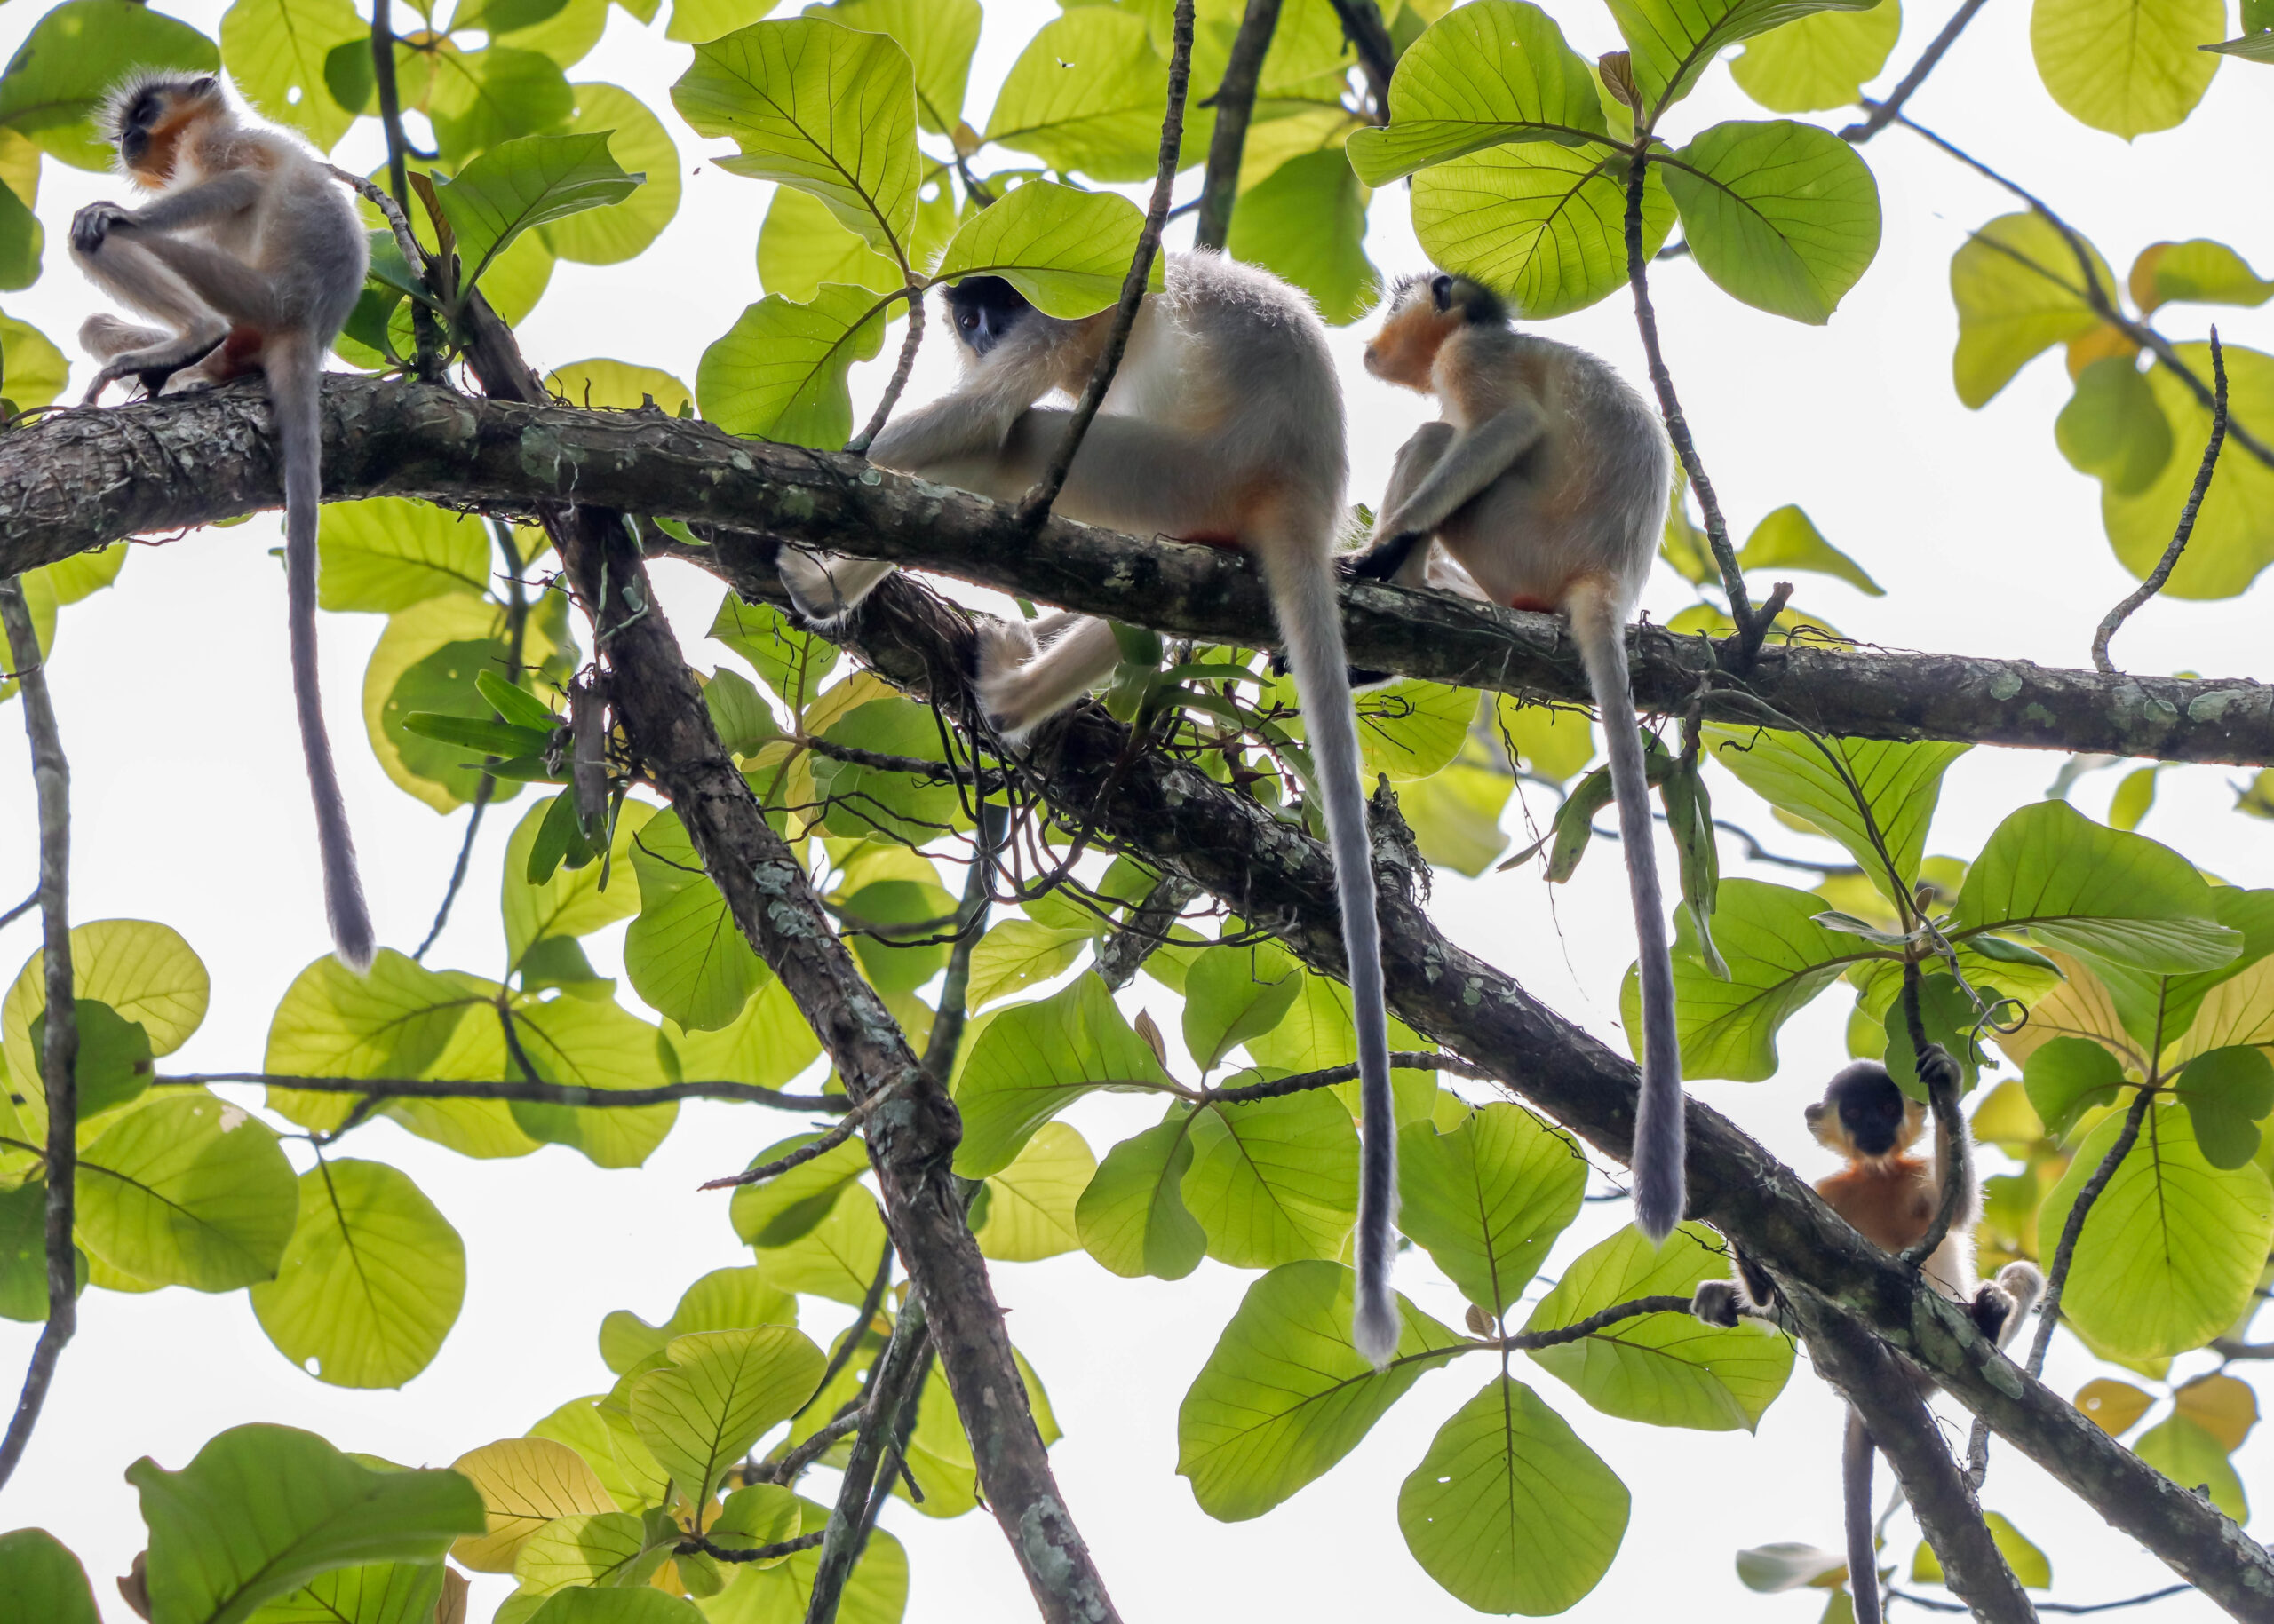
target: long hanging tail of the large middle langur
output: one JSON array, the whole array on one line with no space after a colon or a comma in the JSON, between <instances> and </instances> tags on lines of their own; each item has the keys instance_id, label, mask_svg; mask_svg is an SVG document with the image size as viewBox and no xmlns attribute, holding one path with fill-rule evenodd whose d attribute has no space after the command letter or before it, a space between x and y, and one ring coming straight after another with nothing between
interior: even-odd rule
<instances>
[{"instance_id":1,"label":"long hanging tail of the large middle langur","mask_svg":"<svg viewBox=\"0 0 2274 1624\"><path fill-rule=\"evenodd\" d=\"M1351 710L1348 660L1342 653L1342 610L1335 575L1323 557L1296 555L1264 564L1278 612L1287 664L1303 701L1319 796L1326 805L1326 846L1335 857L1342 901L1342 953L1351 969L1351 1024L1358 1028L1358 1312L1353 1340L1376 1367L1399 1347L1399 1308L1389 1290L1399 1217L1399 1126L1389 1094L1389 1014L1383 1005L1383 933L1373 912L1373 851L1367 842L1367 792L1358 764L1358 716Z\"/></svg>"}]
</instances>

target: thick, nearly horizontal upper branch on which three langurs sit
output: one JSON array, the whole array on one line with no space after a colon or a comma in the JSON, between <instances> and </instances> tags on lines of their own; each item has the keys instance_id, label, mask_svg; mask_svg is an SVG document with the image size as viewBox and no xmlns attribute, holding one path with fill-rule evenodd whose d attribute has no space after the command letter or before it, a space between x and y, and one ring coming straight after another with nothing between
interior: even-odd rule
<instances>
[{"instance_id":1,"label":"thick, nearly horizontal upper branch on which three langurs sit","mask_svg":"<svg viewBox=\"0 0 2274 1624\"><path fill-rule=\"evenodd\" d=\"M471 400L446 389L325 380L325 494L423 496L530 512L537 498L891 557L1162 632L1276 641L1262 580L1237 555L1053 519L1021 537L1007 507L857 457L732 439L662 412ZM123 535L184 530L280 503L257 389L66 412L0 439L0 573ZM748 550L728 548L728 566ZM1376 671L1585 703L1553 616L1376 582L1344 594L1351 660ZM1715 644L1633 632L1635 696L1760 721ZM2097 676L1969 655L1769 646L1746 680L1781 712L1867 739L1962 739L2174 762L2274 762L2274 687Z\"/></svg>"}]
</instances>

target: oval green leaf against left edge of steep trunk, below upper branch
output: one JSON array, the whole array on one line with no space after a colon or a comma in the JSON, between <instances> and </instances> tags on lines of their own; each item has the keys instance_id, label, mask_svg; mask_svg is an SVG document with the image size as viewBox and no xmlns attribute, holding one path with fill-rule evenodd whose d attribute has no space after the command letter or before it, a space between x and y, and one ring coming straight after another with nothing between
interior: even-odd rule
<instances>
[{"instance_id":1,"label":"oval green leaf against left edge of steep trunk, below upper branch","mask_svg":"<svg viewBox=\"0 0 2274 1624\"><path fill-rule=\"evenodd\" d=\"M639 917L623 937L623 973L650 1008L680 1026L725 1026L766 978L764 960L703 873L678 812L657 812L632 839L630 857L639 876L632 896Z\"/></svg>"}]
</instances>

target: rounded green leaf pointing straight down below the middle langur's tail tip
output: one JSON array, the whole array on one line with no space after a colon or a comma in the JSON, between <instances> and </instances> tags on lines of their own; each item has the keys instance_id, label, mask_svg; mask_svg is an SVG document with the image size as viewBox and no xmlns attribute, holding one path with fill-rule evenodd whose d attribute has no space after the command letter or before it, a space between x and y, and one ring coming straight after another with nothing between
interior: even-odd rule
<instances>
[{"instance_id":1,"label":"rounded green leaf pointing straight down below the middle langur's tail tip","mask_svg":"<svg viewBox=\"0 0 2274 1624\"><path fill-rule=\"evenodd\" d=\"M1562 1613L1601 1583L1628 1494L1571 1424L1496 1376L1399 1490L1414 1560L1478 1613Z\"/></svg>"}]
</instances>

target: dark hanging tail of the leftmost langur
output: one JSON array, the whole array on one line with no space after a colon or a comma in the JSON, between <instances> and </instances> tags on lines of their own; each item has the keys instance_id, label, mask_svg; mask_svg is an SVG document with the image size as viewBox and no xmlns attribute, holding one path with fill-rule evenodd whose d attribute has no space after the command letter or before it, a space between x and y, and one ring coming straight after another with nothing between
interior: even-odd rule
<instances>
[{"instance_id":1,"label":"dark hanging tail of the leftmost langur","mask_svg":"<svg viewBox=\"0 0 2274 1624\"><path fill-rule=\"evenodd\" d=\"M316 848L323 855L323 905L332 917L339 962L362 973L371 969L377 942L364 880L355 871L355 839L348 835L348 803L332 767L332 737L323 728L323 691L316 678L316 507L323 500L323 421L318 389L323 350L305 339L273 339L262 355L268 409L284 453L284 598L291 630L291 696L300 712L300 753L307 787L316 801Z\"/></svg>"}]
</instances>

